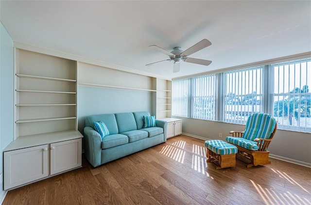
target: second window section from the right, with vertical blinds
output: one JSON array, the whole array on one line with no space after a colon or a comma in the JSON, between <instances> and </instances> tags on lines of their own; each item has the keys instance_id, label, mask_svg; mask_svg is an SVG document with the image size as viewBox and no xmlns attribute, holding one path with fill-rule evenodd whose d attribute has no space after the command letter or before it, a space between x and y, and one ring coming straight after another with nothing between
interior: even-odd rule
<instances>
[{"instance_id":1,"label":"second window section from the right, with vertical blinds","mask_svg":"<svg viewBox=\"0 0 311 205\"><path fill-rule=\"evenodd\" d=\"M249 115L262 112L262 69L259 66L224 73L224 122L245 124Z\"/></svg>"}]
</instances>

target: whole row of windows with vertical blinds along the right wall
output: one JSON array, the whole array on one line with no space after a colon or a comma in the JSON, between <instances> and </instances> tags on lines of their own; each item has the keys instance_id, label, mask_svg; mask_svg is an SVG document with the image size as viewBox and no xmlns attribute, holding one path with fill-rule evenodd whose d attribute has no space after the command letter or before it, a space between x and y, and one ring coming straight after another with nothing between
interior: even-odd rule
<instances>
[{"instance_id":1,"label":"whole row of windows with vertical blinds along the right wall","mask_svg":"<svg viewBox=\"0 0 311 205\"><path fill-rule=\"evenodd\" d=\"M255 112L278 128L311 132L311 58L173 80L172 115L245 124Z\"/></svg>"}]
</instances>

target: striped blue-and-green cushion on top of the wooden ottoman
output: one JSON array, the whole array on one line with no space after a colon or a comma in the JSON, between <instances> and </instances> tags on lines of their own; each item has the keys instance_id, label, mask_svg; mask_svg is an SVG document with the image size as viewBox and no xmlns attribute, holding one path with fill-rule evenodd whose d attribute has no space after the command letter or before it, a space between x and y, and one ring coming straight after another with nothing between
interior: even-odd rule
<instances>
[{"instance_id":1,"label":"striped blue-and-green cushion on top of the wooden ottoman","mask_svg":"<svg viewBox=\"0 0 311 205\"><path fill-rule=\"evenodd\" d=\"M205 146L207 147L207 149L213 151L218 155L231 155L238 153L238 148L236 146L221 140L205 141Z\"/></svg>"}]
</instances>

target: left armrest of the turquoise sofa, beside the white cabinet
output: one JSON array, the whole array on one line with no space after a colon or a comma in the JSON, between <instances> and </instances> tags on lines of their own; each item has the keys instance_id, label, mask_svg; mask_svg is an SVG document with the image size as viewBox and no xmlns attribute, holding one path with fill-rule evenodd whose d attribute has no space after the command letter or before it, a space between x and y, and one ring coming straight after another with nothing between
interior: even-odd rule
<instances>
[{"instance_id":1,"label":"left armrest of the turquoise sofa, beside the white cabinet","mask_svg":"<svg viewBox=\"0 0 311 205\"><path fill-rule=\"evenodd\" d=\"M102 160L102 137L90 126L84 127L85 156L87 160L97 167Z\"/></svg>"}]
</instances>

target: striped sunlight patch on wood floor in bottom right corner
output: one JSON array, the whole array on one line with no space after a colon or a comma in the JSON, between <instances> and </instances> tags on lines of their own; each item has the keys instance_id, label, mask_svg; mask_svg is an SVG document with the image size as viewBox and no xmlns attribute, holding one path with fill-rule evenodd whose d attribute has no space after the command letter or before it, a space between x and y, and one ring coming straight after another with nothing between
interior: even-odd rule
<instances>
[{"instance_id":1,"label":"striped sunlight patch on wood floor in bottom right corner","mask_svg":"<svg viewBox=\"0 0 311 205\"><path fill-rule=\"evenodd\" d=\"M293 195L289 191L277 194L272 189L267 189L267 188L263 189L259 184L256 184L253 180L250 179L250 181L266 205L271 205L271 204L276 204L276 205L311 205L311 201L305 197L301 197L297 194Z\"/></svg>"}]
</instances>

